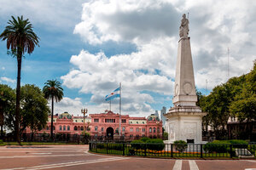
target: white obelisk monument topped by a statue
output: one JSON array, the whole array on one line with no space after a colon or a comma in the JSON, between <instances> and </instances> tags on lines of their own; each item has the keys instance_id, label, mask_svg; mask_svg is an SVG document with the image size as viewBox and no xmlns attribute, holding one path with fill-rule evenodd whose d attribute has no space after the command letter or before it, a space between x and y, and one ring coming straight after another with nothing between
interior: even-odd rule
<instances>
[{"instance_id":1,"label":"white obelisk monument topped by a statue","mask_svg":"<svg viewBox=\"0 0 256 170\"><path fill-rule=\"evenodd\" d=\"M196 106L195 78L190 49L189 20L183 14L179 27L173 107L166 113L167 143L175 140L201 143L201 112Z\"/></svg>"}]
</instances>

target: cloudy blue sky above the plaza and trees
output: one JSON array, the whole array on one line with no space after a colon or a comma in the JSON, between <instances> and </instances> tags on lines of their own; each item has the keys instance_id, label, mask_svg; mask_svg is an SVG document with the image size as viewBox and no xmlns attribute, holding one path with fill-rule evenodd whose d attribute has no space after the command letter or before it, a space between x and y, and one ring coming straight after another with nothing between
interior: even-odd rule
<instances>
[{"instance_id":1,"label":"cloudy blue sky above the plaza and trees","mask_svg":"<svg viewBox=\"0 0 256 170\"><path fill-rule=\"evenodd\" d=\"M29 19L39 46L22 60L21 85L57 80L55 113L109 110L122 83L122 114L148 116L172 106L178 27L189 13L195 86L209 94L256 59L254 0L0 0L0 31L11 16ZM229 49L229 53L228 53ZM15 88L17 61L0 42L0 83ZM112 101L119 112L119 99Z\"/></svg>"}]
</instances>

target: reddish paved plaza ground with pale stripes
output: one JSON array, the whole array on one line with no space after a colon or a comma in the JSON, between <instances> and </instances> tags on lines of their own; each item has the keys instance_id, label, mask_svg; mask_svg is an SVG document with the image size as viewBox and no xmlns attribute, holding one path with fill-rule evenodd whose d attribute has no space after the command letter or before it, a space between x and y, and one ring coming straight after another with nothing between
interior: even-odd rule
<instances>
[{"instance_id":1,"label":"reddish paved plaza ground with pale stripes","mask_svg":"<svg viewBox=\"0 0 256 170\"><path fill-rule=\"evenodd\" d=\"M0 169L171 169L256 170L256 160L175 160L102 156L88 153L88 145L0 147Z\"/></svg>"}]
</instances>

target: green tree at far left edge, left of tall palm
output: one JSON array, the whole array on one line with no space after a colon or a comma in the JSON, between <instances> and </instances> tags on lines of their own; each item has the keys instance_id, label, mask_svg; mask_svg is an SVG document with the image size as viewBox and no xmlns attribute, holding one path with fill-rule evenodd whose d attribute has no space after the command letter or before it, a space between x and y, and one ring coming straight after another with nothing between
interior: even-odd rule
<instances>
[{"instance_id":1,"label":"green tree at far left edge, left of tall palm","mask_svg":"<svg viewBox=\"0 0 256 170\"><path fill-rule=\"evenodd\" d=\"M4 117L15 111L15 91L8 85L0 84L0 126L1 139L3 139Z\"/></svg>"}]
</instances>

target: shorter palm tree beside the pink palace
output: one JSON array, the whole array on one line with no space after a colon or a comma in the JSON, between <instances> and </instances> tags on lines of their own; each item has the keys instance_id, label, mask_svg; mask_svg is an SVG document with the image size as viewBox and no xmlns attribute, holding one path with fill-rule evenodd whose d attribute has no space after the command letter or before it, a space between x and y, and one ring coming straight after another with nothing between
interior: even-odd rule
<instances>
[{"instance_id":1,"label":"shorter palm tree beside the pink palace","mask_svg":"<svg viewBox=\"0 0 256 170\"><path fill-rule=\"evenodd\" d=\"M43 88L44 98L51 99L50 138L53 139L54 99L55 99L55 102L61 101L63 97L63 88L61 88L61 82L58 82L57 80L48 80L44 84L45 84Z\"/></svg>"}]
</instances>

